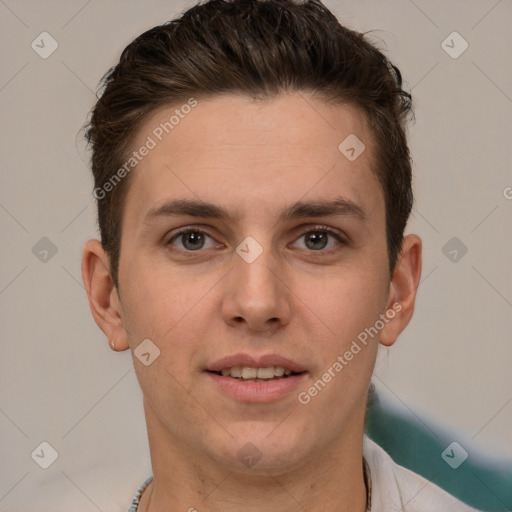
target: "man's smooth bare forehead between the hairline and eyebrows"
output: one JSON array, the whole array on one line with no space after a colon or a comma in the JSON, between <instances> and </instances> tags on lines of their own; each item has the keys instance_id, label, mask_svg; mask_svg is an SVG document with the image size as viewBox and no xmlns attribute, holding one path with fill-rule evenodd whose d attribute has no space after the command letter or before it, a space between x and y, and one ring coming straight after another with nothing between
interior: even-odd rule
<instances>
[{"instance_id":1,"label":"man's smooth bare forehead between the hairline and eyebrows","mask_svg":"<svg viewBox=\"0 0 512 512\"><path fill-rule=\"evenodd\" d=\"M131 220L172 197L229 203L239 217L255 205L281 210L305 196L343 195L369 211L382 206L371 171L373 142L359 109L298 93L195 101L192 108L184 101L158 109L137 132L132 149L152 149L131 175L125 202ZM364 150L351 160L353 152L343 153L347 145Z\"/></svg>"}]
</instances>

